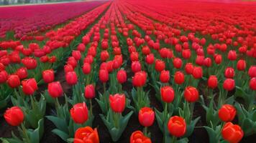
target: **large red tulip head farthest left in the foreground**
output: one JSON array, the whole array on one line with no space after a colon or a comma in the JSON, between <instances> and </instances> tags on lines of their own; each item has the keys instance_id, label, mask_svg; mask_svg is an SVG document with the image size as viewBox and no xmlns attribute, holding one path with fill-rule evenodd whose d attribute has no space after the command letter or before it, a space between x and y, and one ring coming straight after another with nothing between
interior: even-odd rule
<instances>
[{"instance_id":1,"label":"large red tulip head farthest left in the foreground","mask_svg":"<svg viewBox=\"0 0 256 143\"><path fill-rule=\"evenodd\" d=\"M4 119L12 126L19 126L24 121L24 113L19 107L12 107L6 109L4 113Z\"/></svg>"}]
</instances>

